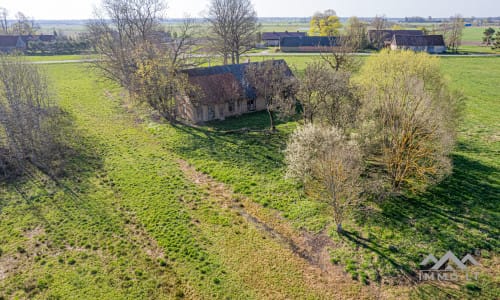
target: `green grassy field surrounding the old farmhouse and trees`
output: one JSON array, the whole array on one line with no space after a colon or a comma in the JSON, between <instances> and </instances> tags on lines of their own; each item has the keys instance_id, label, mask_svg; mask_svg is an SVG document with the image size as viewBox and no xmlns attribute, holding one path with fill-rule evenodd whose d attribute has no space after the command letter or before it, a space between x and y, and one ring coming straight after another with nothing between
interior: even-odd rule
<instances>
[{"instance_id":1,"label":"green grassy field surrounding the old farmhouse and trees","mask_svg":"<svg viewBox=\"0 0 500 300\"><path fill-rule=\"evenodd\" d=\"M300 72L318 57L284 59ZM34 170L0 183L0 298L494 299L500 58L441 61L467 96L454 173L425 195L367 203L342 236L327 205L283 178L296 122L275 135L221 132L265 128L263 113L162 124L85 64L47 66L73 159L60 181ZM311 236L329 240L328 267ZM475 249L478 282L393 285L429 253Z\"/></svg>"}]
</instances>

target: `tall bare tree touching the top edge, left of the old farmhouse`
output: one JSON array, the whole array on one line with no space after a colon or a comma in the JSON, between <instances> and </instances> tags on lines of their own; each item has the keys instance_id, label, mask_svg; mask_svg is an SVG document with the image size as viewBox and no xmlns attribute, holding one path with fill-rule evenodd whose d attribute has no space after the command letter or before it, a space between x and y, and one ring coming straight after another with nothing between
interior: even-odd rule
<instances>
[{"instance_id":1,"label":"tall bare tree touching the top edge, left of the old farmhouse","mask_svg":"<svg viewBox=\"0 0 500 300\"><path fill-rule=\"evenodd\" d=\"M154 51L161 33L159 19L166 4L162 0L103 0L95 19L87 25L91 42L101 56L95 66L103 75L130 87L138 57ZM137 55L137 51L144 51Z\"/></svg>"}]
</instances>

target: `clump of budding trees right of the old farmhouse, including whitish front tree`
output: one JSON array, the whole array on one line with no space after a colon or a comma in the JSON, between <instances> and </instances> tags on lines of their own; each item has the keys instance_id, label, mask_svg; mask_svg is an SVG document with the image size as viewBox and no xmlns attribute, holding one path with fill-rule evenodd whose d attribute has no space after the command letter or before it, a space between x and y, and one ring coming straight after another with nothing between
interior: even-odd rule
<instances>
[{"instance_id":1,"label":"clump of budding trees right of the old farmhouse, including whitish front tree","mask_svg":"<svg viewBox=\"0 0 500 300\"><path fill-rule=\"evenodd\" d=\"M304 125L286 149L288 177L328 200L339 232L353 204L418 193L451 172L463 98L427 54L383 51L355 78L348 66L308 64Z\"/></svg>"}]
</instances>

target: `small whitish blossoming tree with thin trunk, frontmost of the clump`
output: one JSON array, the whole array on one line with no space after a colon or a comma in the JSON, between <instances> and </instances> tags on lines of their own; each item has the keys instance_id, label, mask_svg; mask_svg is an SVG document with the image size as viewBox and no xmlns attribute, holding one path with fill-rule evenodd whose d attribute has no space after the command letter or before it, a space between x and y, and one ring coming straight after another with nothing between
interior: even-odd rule
<instances>
[{"instance_id":1,"label":"small whitish blossoming tree with thin trunk, frontmost of the clump","mask_svg":"<svg viewBox=\"0 0 500 300\"><path fill-rule=\"evenodd\" d=\"M285 159L287 176L332 206L337 232L342 232L346 214L359 200L359 147L335 127L307 124L291 135Z\"/></svg>"}]
</instances>

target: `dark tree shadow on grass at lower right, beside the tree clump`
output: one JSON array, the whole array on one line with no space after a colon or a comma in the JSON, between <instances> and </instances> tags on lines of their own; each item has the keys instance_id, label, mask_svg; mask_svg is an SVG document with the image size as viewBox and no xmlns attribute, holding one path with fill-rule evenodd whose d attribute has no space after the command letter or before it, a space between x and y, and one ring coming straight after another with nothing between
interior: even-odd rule
<instances>
[{"instance_id":1,"label":"dark tree shadow on grass at lower right, beside the tree clump","mask_svg":"<svg viewBox=\"0 0 500 300\"><path fill-rule=\"evenodd\" d=\"M427 192L386 199L375 204L379 211L358 212L355 219L370 231L369 240L346 237L410 275L410 264L429 253L498 251L500 170L459 154L453 162L453 174Z\"/></svg>"}]
</instances>

